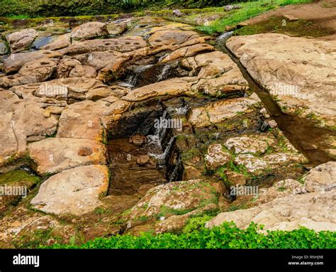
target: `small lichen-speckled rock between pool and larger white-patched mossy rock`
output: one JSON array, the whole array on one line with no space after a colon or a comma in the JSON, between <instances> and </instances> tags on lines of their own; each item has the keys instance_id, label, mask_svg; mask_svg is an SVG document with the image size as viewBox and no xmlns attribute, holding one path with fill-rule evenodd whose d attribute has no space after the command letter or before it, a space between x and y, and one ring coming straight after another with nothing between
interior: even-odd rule
<instances>
[{"instance_id":1,"label":"small lichen-speckled rock between pool and larger white-patched mossy rock","mask_svg":"<svg viewBox=\"0 0 336 272\"><path fill-rule=\"evenodd\" d=\"M208 170L215 170L228 163L230 159L230 154L223 151L220 143L211 144L208 146L208 153L206 154L206 168Z\"/></svg>"}]
</instances>

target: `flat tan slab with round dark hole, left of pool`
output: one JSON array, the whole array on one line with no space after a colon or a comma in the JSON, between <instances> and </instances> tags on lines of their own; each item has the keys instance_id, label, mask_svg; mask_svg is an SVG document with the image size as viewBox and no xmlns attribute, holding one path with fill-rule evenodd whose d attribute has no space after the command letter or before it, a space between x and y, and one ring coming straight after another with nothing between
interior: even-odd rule
<instances>
[{"instance_id":1,"label":"flat tan slab with round dark hole, left of pool","mask_svg":"<svg viewBox=\"0 0 336 272\"><path fill-rule=\"evenodd\" d=\"M30 143L28 151L40 175L83 165L106 164L105 146L87 139L47 138Z\"/></svg>"}]
</instances>

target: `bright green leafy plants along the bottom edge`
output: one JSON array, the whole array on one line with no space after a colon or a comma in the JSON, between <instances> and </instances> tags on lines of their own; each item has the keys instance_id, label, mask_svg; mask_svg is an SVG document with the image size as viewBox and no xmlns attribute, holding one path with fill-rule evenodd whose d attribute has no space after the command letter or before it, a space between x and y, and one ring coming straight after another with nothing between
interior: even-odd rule
<instances>
[{"instance_id":1,"label":"bright green leafy plants along the bottom edge","mask_svg":"<svg viewBox=\"0 0 336 272\"><path fill-rule=\"evenodd\" d=\"M96 238L85 244L54 244L54 249L336 249L336 232L314 232L301 228L291 232L260 232L254 223L239 229L233 222L208 229L204 222L209 216L196 217L181 234L150 234L140 236L116 235ZM40 246L45 247L45 246ZM49 247L50 248L50 247Z\"/></svg>"}]
</instances>

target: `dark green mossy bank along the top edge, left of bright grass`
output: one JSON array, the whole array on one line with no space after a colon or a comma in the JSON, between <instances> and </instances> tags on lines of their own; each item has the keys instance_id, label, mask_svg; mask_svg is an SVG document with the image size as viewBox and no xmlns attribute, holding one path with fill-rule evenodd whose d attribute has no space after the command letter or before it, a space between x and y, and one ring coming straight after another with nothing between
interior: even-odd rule
<instances>
[{"instance_id":1,"label":"dark green mossy bank along the top edge, left of bright grass","mask_svg":"<svg viewBox=\"0 0 336 272\"><path fill-rule=\"evenodd\" d=\"M80 16L131 11L195 9L223 6L234 0L2 0L0 16L27 18L39 16Z\"/></svg>"}]
</instances>

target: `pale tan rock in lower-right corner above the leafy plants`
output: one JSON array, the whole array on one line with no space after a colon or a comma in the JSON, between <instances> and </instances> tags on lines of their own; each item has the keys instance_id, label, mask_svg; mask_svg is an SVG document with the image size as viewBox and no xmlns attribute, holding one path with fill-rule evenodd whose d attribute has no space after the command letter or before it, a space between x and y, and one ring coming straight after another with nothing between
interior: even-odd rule
<instances>
[{"instance_id":1,"label":"pale tan rock in lower-right corner above the leafy plants","mask_svg":"<svg viewBox=\"0 0 336 272\"><path fill-rule=\"evenodd\" d=\"M266 230L293 230L307 227L317 232L322 230L336 231L335 207L335 177L333 172L335 163L329 162L310 170L307 176L308 183L305 187L293 180L284 180L275 185L274 189L262 195L261 202L266 202L257 207L234 212L222 212L206 223L207 227L218 226L225 221L233 221L237 227L246 228L250 222L264 225ZM321 178L326 190L315 187L308 192L311 183L320 184ZM330 186L328 186L330 185ZM284 187L282 192L274 193ZM289 192L286 192L289 190ZM271 201L269 201L271 200ZM269 201L269 202L268 202Z\"/></svg>"}]
</instances>

